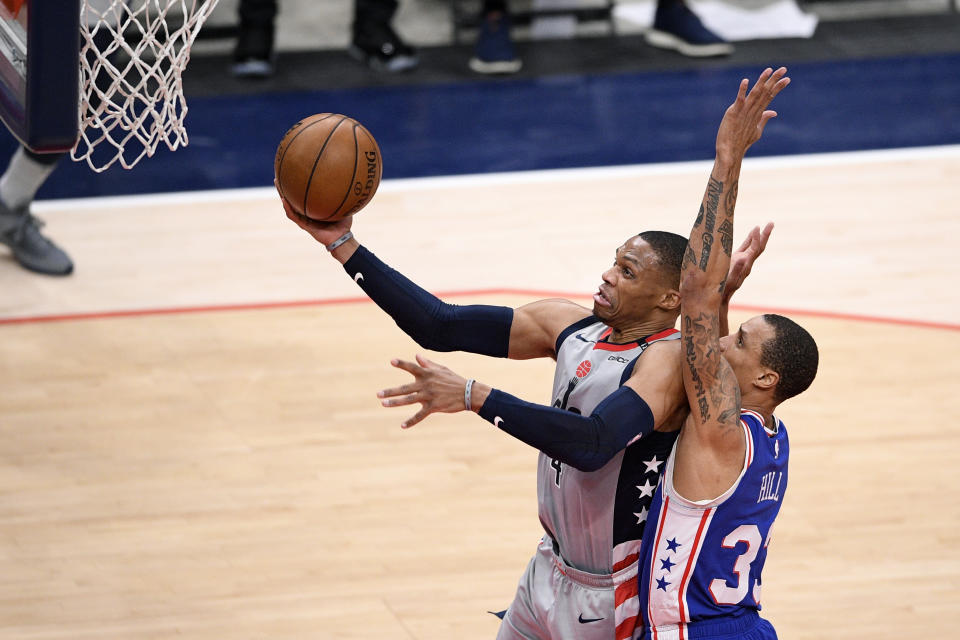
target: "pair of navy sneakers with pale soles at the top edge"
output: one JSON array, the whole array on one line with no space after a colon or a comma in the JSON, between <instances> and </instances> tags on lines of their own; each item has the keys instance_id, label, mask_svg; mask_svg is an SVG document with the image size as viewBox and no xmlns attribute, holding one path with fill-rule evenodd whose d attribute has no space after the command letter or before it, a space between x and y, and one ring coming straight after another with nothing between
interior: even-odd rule
<instances>
[{"instance_id":1,"label":"pair of navy sneakers with pale soles at the top edge","mask_svg":"<svg viewBox=\"0 0 960 640\"><path fill-rule=\"evenodd\" d=\"M516 73L523 62L516 54L510 36L510 11L507 0L484 0L480 33L470 68L477 73ZM685 56L725 56L733 46L707 29L684 0L658 0L652 28L646 41L655 47L671 49Z\"/></svg>"}]
</instances>

